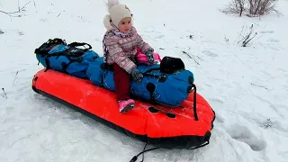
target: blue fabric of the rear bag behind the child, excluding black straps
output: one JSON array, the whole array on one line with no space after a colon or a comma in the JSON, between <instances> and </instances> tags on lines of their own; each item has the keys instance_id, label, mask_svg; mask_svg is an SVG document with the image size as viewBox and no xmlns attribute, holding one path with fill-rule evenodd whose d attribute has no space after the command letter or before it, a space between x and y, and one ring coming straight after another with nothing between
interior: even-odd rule
<instances>
[{"instance_id":1,"label":"blue fabric of the rear bag behind the child, excluding black straps","mask_svg":"<svg viewBox=\"0 0 288 162\"><path fill-rule=\"evenodd\" d=\"M36 58L40 61L43 67L47 67L47 61L49 62L49 67L57 70L59 72L66 72L71 76L87 78L86 69L89 63L94 61L95 58L99 58L99 55L94 52L94 50L87 50L80 57L75 56L50 56L57 52L64 52L67 49L77 49L76 47L69 47L66 44L59 44L50 49L47 55L40 55L36 53ZM70 59L72 59L72 62ZM47 60L45 60L47 59ZM69 64L69 62L71 62ZM63 68L63 65L67 65L67 68ZM69 65L68 65L69 64Z\"/></svg>"}]
</instances>

